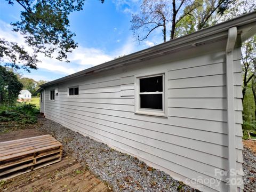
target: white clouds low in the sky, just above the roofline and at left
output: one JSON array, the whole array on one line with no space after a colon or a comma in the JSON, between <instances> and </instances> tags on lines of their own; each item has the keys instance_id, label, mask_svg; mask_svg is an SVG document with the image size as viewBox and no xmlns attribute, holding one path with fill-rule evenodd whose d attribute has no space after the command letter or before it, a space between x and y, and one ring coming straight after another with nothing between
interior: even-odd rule
<instances>
[{"instance_id":1,"label":"white clouds low in the sky, just above the roofline and at left","mask_svg":"<svg viewBox=\"0 0 256 192\"><path fill-rule=\"evenodd\" d=\"M7 41L17 42L19 45L25 45L24 47L27 51L32 51L31 48L25 44L24 38L19 33L12 31L11 25L1 20L0 38L5 38ZM117 42L118 41L119 39ZM121 49L113 50L110 54L93 47L79 46L68 55L70 63L61 62L56 59L44 57L43 54L38 54L38 59L42 62L39 62L37 67L39 70L46 69L49 71L58 72L60 74L69 75L88 67L110 61L119 55L130 54L136 50L137 46L133 42L132 38L128 38L127 42L121 47Z\"/></svg>"}]
</instances>

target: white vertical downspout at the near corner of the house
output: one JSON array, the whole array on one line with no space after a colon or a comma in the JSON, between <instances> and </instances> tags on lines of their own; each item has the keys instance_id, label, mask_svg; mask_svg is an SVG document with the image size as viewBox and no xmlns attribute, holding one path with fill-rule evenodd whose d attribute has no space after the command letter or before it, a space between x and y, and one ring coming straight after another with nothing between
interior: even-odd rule
<instances>
[{"instance_id":1,"label":"white vertical downspout at the near corner of the house","mask_svg":"<svg viewBox=\"0 0 256 192\"><path fill-rule=\"evenodd\" d=\"M234 69L233 50L236 43L237 28L228 30L226 46L226 88L227 88L227 117L228 117L228 172L229 190L236 191L236 146L235 146L235 110L234 110Z\"/></svg>"}]
</instances>

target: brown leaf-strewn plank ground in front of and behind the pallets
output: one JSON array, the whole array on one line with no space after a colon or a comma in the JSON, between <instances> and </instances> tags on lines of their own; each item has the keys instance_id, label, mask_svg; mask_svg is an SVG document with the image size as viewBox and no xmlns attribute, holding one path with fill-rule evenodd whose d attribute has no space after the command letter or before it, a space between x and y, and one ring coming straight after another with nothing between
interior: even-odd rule
<instances>
[{"instance_id":1,"label":"brown leaf-strewn plank ground in front of and behind the pallets","mask_svg":"<svg viewBox=\"0 0 256 192\"><path fill-rule=\"evenodd\" d=\"M13 131L0 135L0 141L43 135L35 129ZM7 181L0 181L0 191L110 191L86 165L81 165L63 151L62 161L42 167Z\"/></svg>"}]
</instances>

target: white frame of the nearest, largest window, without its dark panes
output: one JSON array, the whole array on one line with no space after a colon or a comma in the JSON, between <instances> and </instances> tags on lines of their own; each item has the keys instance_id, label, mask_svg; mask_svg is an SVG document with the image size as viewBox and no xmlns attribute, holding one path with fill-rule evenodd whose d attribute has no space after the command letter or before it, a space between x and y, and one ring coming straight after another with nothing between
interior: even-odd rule
<instances>
[{"instance_id":1,"label":"white frame of the nearest, largest window, without its dark panes","mask_svg":"<svg viewBox=\"0 0 256 192\"><path fill-rule=\"evenodd\" d=\"M157 77L162 76L163 78L163 91L162 92L142 92L140 93L140 79L141 78L148 78L148 77ZM160 117L167 117L167 73L166 71L159 71L158 73L150 73L150 74L141 74L134 76L134 107L135 107L135 114L142 114L142 115L151 115L151 116L160 116ZM140 108L140 95L141 94L162 94L162 105L163 109L147 109L147 108Z\"/></svg>"}]
</instances>

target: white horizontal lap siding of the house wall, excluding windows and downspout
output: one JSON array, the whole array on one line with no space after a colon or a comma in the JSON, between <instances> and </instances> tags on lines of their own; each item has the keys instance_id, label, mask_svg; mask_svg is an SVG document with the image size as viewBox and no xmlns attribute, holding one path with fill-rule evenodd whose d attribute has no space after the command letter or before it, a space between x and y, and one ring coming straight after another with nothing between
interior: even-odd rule
<instances>
[{"instance_id":1,"label":"white horizontal lap siding of the house wall, excluding windows and downspout","mask_svg":"<svg viewBox=\"0 0 256 192\"><path fill-rule=\"evenodd\" d=\"M213 55L217 58L215 62L204 55L191 58L190 64L181 60L159 66L145 65L147 70L167 71L168 118L134 114L134 75L143 74L145 68L79 79L78 83L73 82L79 85L78 97L67 95L71 84L60 84L55 101L49 101L49 87L46 118L182 177L218 179L220 186L203 183L204 188L226 190L225 177L214 174L215 169L228 169L226 69L223 52ZM234 62L234 108L236 165L240 170L242 69L238 59Z\"/></svg>"}]
</instances>

